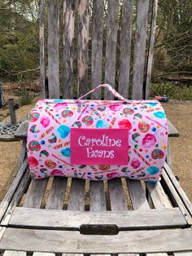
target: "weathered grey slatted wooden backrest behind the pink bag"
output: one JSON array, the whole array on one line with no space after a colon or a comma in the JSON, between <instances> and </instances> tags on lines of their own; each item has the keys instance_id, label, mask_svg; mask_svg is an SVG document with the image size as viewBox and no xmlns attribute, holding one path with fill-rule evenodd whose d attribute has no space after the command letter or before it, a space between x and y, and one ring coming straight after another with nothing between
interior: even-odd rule
<instances>
[{"instance_id":1,"label":"weathered grey slatted wooden backrest behind the pink bag","mask_svg":"<svg viewBox=\"0 0 192 256\"><path fill-rule=\"evenodd\" d=\"M41 0L42 96L45 97L45 56L48 56L50 98L59 98L59 87L63 88L63 98L71 99L74 85L77 87L75 96L81 96L102 82L116 86L126 98L128 93L132 99L148 97L157 0L154 2L150 8L149 0L137 0L137 6L133 0L65 0L63 4L47 0L47 6ZM148 23L150 14L151 27ZM150 30L148 37L147 29ZM101 91L95 91L91 97L99 99ZM104 92L105 99L112 97L111 93Z\"/></svg>"}]
</instances>

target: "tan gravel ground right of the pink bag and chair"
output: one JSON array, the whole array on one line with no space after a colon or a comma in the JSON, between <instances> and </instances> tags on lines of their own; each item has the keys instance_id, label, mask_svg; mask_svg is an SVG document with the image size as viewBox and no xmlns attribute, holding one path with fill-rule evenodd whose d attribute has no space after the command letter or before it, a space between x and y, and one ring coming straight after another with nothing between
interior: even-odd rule
<instances>
[{"instance_id":1,"label":"tan gravel ground right of the pink bag and chair","mask_svg":"<svg viewBox=\"0 0 192 256\"><path fill-rule=\"evenodd\" d=\"M192 104L164 104L164 109L180 133L169 139L172 169L192 201Z\"/></svg>"}]
</instances>

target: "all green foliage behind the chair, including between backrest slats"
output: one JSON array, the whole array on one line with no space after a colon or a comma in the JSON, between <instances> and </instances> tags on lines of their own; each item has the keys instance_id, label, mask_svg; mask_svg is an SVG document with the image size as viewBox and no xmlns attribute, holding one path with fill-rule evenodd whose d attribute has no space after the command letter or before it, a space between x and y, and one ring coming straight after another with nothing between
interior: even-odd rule
<instances>
[{"instance_id":1,"label":"all green foliage behind the chair, including between backrest slats","mask_svg":"<svg viewBox=\"0 0 192 256\"><path fill-rule=\"evenodd\" d=\"M120 0L120 6L122 6ZM136 1L137 2L137 1ZM135 3L136 3L135 2ZM133 7L133 40L131 48L131 60L133 60L134 37L137 20L137 8ZM39 66L39 18L38 0L1 0L0 1L0 77L6 80L32 80L37 77ZM63 45L63 1L59 0L59 46ZM47 38L47 2L45 2L45 38ZM93 11L93 0L89 1L89 13ZM122 8L119 11L119 21ZM150 7L151 12L151 7ZM107 30L107 1L104 4L104 33L103 33L103 55L106 49ZM190 72L192 68L191 39L192 39L192 1L191 0L159 0L157 26L155 33L155 58L152 78L159 77L164 73ZM91 17L90 17L91 20ZM150 28L151 15L149 15ZM75 11L75 38L74 38L74 77L77 73L77 40L78 40L78 5ZM89 24L89 35L91 37L92 24ZM120 38L120 28L118 38ZM149 34L149 33L148 33ZM148 38L149 39L149 38ZM147 39L147 42L148 42ZM47 47L47 44L46 44ZM47 50L47 49L46 49ZM61 84L63 83L63 48L60 52L60 74ZM89 55L91 52L91 40L89 40ZM120 45L117 46L116 54L116 77L119 76L119 55ZM47 55L46 55L47 59ZM90 60L88 62L90 72ZM103 68L105 61L103 58ZM104 73L104 70L103 70ZM131 64L130 74L132 76L133 65ZM88 75L90 77L90 73ZM130 77L130 81L132 81ZM155 81L157 82L157 81ZM76 83L76 82L75 82ZM89 82L90 85L90 82ZM131 85L129 86L129 97L131 97ZM181 90L181 95L177 95ZM189 90L189 91L188 91ZM76 95L77 85L74 87ZM102 90L103 91L103 90ZM157 92L157 93L156 93ZM168 95L169 97L190 98L191 90L185 86L172 86L160 83L151 88L151 94Z\"/></svg>"}]
</instances>

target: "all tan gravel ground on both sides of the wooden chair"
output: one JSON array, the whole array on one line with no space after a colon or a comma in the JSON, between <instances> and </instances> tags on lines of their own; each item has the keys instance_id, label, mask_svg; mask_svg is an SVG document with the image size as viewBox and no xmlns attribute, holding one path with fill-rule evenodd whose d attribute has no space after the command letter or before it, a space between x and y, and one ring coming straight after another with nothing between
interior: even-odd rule
<instances>
[{"instance_id":1,"label":"all tan gravel ground on both sides of the wooden chair","mask_svg":"<svg viewBox=\"0 0 192 256\"><path fill-rule=\"evenodd\" d=\"M26 116L32 105L26 105L17 110L18 120ZM174 174L180 178L180 183L190 201L192 201L192 104L164 104L168 119L180 132L180 137L170 138L170 150ZM5 118L6 121L9 117ZM0 141L0 201L7 192L16 173L19 155L19 141Z\"/></svg>"}]
</instances>

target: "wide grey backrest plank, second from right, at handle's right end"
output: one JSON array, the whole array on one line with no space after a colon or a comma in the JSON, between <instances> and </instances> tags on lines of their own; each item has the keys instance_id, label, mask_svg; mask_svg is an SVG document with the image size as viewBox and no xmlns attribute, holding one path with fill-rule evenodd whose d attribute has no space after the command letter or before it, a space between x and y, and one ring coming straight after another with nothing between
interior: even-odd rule
<instances>
[{"instance_id":1,"label":"wide grey backrest plank, second from right, at handle's right end","mask_svg":"<svg viewBox=\"0 0 192 256\"><path fill-rule=\"evenodd\" d=\"M130 54L132 38L133 0L124 0L120 33L120 77L119 93L125 98L129 90Z\"/></svg>"}]
</instances>

